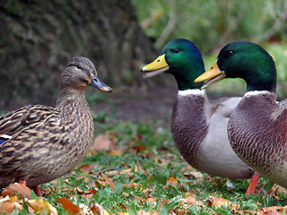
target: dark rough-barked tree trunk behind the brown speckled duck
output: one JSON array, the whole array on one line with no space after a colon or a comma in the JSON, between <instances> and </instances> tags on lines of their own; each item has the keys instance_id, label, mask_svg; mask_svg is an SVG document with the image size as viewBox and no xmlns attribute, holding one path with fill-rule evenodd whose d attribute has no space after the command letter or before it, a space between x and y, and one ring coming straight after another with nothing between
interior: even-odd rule
<instances>
[{"instance_id":1,"label":"dark rough-barked tree trunk behind the brown speckled duck","mask_svg":"<svg viewBox=\"0 0 287 215\"><path fill-rule=\"evenodd\" d=\"M0 107L55 100L73 56L87 56L111 87L139 81L155 57L129 0L14 0L0 3Z\"/></svg>"}]
</instances>

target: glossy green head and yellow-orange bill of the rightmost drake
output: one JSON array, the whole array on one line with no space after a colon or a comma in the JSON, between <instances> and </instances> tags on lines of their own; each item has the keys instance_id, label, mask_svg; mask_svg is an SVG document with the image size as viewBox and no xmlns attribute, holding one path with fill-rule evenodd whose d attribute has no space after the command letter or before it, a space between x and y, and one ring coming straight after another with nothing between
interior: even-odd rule
<instances>
[{"instance_id":1,"label":"glossy green head and yellow-orange bill of the rightmost drake","mask_svg":"<svg viewBox=\"0 0 287 215\"><path fill-rule=\"evenodd\" d=\"M248 91L276 90L276 68L272 56L251 42L231 42L223 47L213 66L195 82L205 82L205 88L222 78L241 78L247 83Z\"/></svg>"}]
</instances>

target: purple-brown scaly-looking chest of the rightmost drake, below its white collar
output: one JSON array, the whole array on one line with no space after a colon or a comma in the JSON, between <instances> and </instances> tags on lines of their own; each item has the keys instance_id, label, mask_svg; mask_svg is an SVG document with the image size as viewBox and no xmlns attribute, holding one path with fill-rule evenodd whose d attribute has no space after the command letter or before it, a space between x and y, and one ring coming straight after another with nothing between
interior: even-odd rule
<instances>
[{"instance_id":1,"label":"purple-brown scaly-looking chest of the rightmost drake, below its white collar","mask_svg":"<svg viewBox=\"0 0 287 215\"><path fill-rule=\"evenodd\" d=\"M287 121L274 97L248 96L239 102L228 125L232 149L262 173L274 169L286 154Z\"/></svg>"}]
</instances>

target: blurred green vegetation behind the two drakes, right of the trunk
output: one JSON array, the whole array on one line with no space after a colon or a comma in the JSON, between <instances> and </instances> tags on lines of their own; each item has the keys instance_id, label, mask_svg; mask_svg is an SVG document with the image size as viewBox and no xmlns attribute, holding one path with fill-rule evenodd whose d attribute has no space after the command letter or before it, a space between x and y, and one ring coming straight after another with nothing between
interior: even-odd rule
<instances>
[{"instance_id":1,"label":"blurred green vegetation behind the two drakes, right of the trunk","mask_svg":"<svg viewBox=\"0 0 287 215\"><path fill-rule=\"evenodd\" d=\"M154 47L161 49L170 39L189 39L201 50L205 69L230 41L258 43L274 57L278 98L287 97L286 0L132 1ZM240 80L223 80L208 89L215 96L242 95L245 90L245 83Z\"/></svg>"}]
</instances>

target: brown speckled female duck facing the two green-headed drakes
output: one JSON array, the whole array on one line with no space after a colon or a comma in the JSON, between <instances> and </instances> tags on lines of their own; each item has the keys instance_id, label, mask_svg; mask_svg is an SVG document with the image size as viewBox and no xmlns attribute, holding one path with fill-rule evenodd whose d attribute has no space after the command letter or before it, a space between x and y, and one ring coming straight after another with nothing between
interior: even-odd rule
<instances>
[{"instance_id":1,"label":"brown speckled female duck facing the two green-headed drakes","mask_svg":"<svg viewBox=\"0 0 287 215\"><path fill-rule=\"evenodd\" d=\"M56 107L30 105L0 116L0 187L22 182L40 194L48 183L74 168L94 135L87 87L112 91L100 82L91 60L77 56L61 74Z\"/></svg>"}]
</instances>

